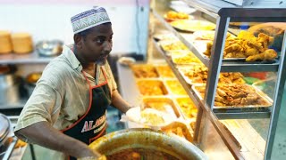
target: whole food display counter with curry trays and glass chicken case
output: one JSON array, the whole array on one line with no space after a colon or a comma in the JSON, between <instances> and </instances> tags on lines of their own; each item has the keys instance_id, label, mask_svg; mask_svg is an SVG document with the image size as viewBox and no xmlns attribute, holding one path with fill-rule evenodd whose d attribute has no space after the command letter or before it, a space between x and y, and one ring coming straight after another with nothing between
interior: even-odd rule
<instances>
[{"instance_id":1,"label":"whole food display counter with curry trays and glass chicken case","mask_svg":"<svg viewBox=\"0 0 286 160\"><path fill-rule=\"evenodd\" d=\"M220 3L152 1L146 61L117 63L122 96L172 114L210 159L270 159L285 38L284 28L272 25L273 34L264 23L282 25L286 10Z\"/></svg>"}]
</instances>

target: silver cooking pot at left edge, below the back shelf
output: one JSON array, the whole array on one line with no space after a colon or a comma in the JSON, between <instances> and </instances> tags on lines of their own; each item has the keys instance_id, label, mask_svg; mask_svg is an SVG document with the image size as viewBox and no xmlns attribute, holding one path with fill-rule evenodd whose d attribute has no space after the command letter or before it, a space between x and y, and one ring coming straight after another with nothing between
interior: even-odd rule
<instances>
[{"instance_id":1,"label":"silver cooking pot at left edge, below the back shelf","mask_svg":"<svg viewBox=\"0 0 286 160\"><path fill-rule=\"evenodd\" d=\"M11 67L0 66L0 104L16 103L21 99L20 79Z\"/></svg>"}]
</instances>

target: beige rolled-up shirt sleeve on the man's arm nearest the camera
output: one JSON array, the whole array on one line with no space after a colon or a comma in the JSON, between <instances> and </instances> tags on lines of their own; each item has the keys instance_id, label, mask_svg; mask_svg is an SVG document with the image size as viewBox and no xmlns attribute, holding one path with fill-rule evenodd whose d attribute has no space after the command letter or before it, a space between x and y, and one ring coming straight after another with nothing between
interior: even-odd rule
<instances>
[{"instance_id":1,"label":"beige rolled-up shirt sleeve on the man's arm nearest the camera","mask_svg":"<svg viewBox=\"0 0 286 160\"><path fill-rule=\"evenodd\" d=\"M45 83L38 83L21 111L14 132L43 121L55 124L62 101L60 93L53 87Z\"/></svg>"}]
</instances>

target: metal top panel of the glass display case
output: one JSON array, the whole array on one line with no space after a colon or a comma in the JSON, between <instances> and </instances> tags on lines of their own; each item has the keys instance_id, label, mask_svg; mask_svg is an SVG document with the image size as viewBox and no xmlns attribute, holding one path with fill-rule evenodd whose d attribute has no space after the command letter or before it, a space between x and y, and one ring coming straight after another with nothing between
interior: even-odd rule
<instances>
[{"instance_id":1,"label":"metal top panel of the glass display case","mask_svg":"<svg viewBox=\"0 0 286 160\"><path fill-rule=\"evenodd\" d=\"M243 6L231 4L222 0L183 0L186 4L196 8L201 12L214 17L232 17L233 21L246 20L245 18L273 18L281 20L285 18L285 4L278 1L248 1ZM247 14L246 14L247 13ZM241 16L244 15L244 16ZM237 19L238 18L238 19ZM265 21L261 19L262 21ZM253 21L248 19L248 21ZM269 21L269 20L268 20Z\"/></svg>"}]
</instances>

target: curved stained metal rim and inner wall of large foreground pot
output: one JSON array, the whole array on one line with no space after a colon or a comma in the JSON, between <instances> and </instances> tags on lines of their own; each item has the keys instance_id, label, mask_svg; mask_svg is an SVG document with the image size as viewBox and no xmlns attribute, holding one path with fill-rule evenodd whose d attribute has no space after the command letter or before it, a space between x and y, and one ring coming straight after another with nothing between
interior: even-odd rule
<instances>
[{"instance_id":1,"label":"curved stained metal rim and inner wall of large foreground pot","mask_svg":"<svg viewBox=\"0 0 286 160\"><path fill-rule=\"evenodd\" d=\"M161 151L178 159L207 159L206 155L187 140L156 132L151 129L127 129L111 132L95 140L89 148L106 156L127 148L147 148Z\"/></svg>"}]
</instances>

